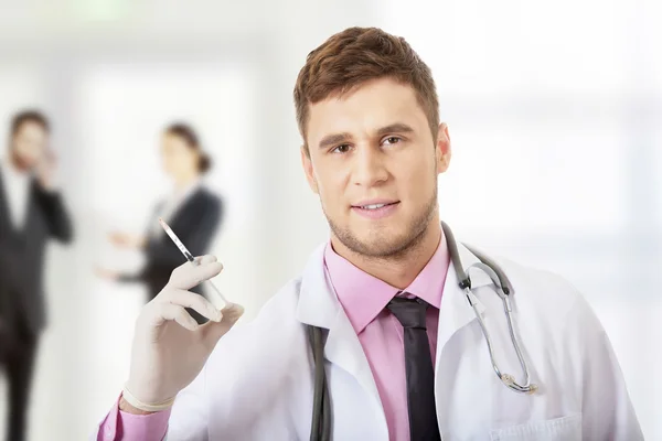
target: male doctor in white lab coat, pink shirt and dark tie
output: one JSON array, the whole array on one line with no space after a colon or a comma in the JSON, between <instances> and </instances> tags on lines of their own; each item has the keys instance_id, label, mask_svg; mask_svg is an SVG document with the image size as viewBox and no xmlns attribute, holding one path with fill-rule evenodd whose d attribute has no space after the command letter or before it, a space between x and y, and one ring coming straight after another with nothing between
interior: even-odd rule
<instances>
[{"instance_id":1,"label":"male doctor in white lab coat, pink shirt and dark tie","mask_svg":"<svg viewBox=\"0 0 662 441\"><path fill-rule=\"evenodd\" d=\"M129 378L98 440L310 439L306 325L324 330L333 440L642 439L602 326L554 275L499 260L538 389L520 394L494 375L440 227L448 127L429 68L403 39L360 28L331 36L308 55L295 103L331 240L232 332L241 306L218 312L188 291L221 263L178 268L137 321ZM459 256L477 261L462 245ZM516 376L494 284L472 276L495 356ZM197 325L185 306L211 321Z\"/></svg>"}]
</instances>

